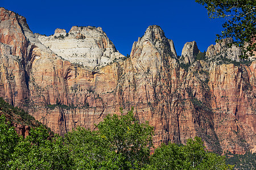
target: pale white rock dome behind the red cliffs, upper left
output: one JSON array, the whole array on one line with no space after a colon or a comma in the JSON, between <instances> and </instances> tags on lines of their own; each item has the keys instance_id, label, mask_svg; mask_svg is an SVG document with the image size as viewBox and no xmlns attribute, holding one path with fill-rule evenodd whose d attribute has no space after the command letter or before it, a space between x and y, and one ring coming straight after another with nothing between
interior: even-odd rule
<instances>
[{"instance_id":1,"label":"pale white rock dome behind the red cliffs, upper left","mask_svg":"<svg viewBox=\"0 0 256 170\"><path fill-rule=\"evenodd\" d=\"M68 33L65 29L57 28L52 36L36 36L58 56L89 70L97 70L114 60L125 58L115 49L101 27L73 26Z\"/></svg>"}]
</instances>

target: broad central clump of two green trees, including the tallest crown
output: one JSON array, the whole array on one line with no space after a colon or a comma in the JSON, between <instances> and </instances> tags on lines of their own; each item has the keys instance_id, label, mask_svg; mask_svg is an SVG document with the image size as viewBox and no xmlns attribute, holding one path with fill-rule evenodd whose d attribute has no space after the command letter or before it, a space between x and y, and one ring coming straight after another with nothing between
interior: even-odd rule
<instances>
[{"instance_id":1,"label":"broad central clump of two green trees, including the tallest crown","mask_svg":"<svg viewBox=\"0 0 256 170\"><path fill-rule=\"evenodd\" d=\"M109 114L96 129L78 127L66 135L73 169L138 169L149 163L153 128L140 123L133 109Z\"/></svg>"}]
</instances>

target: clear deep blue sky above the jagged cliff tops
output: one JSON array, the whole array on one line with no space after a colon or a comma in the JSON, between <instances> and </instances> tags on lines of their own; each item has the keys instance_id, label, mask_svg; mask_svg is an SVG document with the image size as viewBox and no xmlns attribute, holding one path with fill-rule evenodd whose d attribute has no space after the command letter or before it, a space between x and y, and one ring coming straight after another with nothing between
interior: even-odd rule
<instances>
[{"instance_id":1,"label":"clear deep blue sky above the jagged cliff tops","mask_svg":"<svg viewBox=\"0 0 256 170\"><path fill-rule=\"evenodd\" d=\"M174 40L177 54L188 41L196 41L203 52L215 44L223 20L209 19L207 10L195 0L0 0L0 6L27 18L34 33L52 35L56 28L68 32L73 25L102 27L119 52L130 54L149 25L159 25Z\"/></svg>"}]
</instances>

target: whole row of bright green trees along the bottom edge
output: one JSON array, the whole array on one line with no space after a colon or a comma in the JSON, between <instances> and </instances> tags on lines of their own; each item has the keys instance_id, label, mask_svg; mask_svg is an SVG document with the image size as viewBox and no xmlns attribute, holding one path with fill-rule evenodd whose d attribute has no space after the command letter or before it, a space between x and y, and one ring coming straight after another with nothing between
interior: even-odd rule
<instances>
[{"instance_id":1,"label":"whole row of bright green trees along the bottom edge","mask_svg":"<svg viewBox=\"0 0 256 170\"><path fill-rule=\"evenodd\" d=\"M232 169L225 158L205 151L199 137L187 145L152 148L153 127L140 123L133 108L121 116L106 116L94 130L77 127L52 135L45 126L18 137L0 117L0 169Z\"/></svg>"}]
</instances>

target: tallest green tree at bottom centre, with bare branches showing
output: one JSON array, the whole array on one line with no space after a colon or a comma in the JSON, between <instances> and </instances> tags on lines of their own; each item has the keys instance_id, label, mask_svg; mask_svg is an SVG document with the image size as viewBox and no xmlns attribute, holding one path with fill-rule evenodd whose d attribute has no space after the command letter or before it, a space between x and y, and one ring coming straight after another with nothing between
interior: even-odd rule
<instances>
[{"instance_id":1,"label":"tallest green tree at bottom centre, with bare branches showing","mask_svg":"<svg viewBox=\"0 0 256 170\"><path fill-rule=\"evenodd\" d=\"M143 167L148 163L154 129L148 122L140 124L133 116L133 108L122 116L106 116L96 127L98 133L108 141L111 151L125 156L122 167Z\"/></svg>"}]
</instances>

